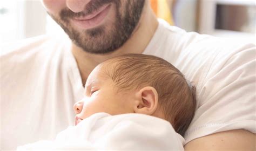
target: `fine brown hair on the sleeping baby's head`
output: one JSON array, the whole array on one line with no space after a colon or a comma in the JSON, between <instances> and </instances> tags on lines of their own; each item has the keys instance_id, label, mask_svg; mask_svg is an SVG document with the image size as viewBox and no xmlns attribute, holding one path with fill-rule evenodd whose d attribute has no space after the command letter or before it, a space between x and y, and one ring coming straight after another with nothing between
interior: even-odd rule
<instances>
[{"instance_id":1,"label":"fine brown hair on the sleeping baby's head","mask_svg":"<svg viewBox=\"0 0 256 151\"><path fill-rule=\"evenodd\" d=\"M124 54L104 64L110 69L106 74L120 90L154 87L165 120L177 133L185 134L196 109L196 88L176 67L164 59L145 54Z\"/></svg>"}]
</instances>

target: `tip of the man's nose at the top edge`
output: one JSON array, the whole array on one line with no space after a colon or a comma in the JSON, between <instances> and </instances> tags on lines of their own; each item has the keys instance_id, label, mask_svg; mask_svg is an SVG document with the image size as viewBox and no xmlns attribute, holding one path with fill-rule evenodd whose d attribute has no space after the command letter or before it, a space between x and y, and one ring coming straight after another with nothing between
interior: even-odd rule
<instances>
[{"instance_id":1,"label":"tip of the man's nose at the top edge","mask_svg":"<svg viewBox=\"0 0 256 151\"><path fill-rule=\"evenodd\" d=\"M91 0L66 0L66 6L73 12L81 12Z\"/></svg>"}]
</instances>

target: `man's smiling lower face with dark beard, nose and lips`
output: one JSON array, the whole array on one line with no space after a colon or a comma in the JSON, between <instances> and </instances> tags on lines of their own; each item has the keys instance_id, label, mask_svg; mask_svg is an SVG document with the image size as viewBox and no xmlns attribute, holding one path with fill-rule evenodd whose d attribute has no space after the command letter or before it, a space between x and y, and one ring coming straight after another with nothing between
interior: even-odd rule
<instances>
[{"instance_id":1,"label":"man's smiling lower face with dark beard, nose and lips","mask_svg":"<svg viewBox=\"0 0 256 151\"><path fill-rule=\"evenodd\" d=\"M145 0L43 0L49 15L84 51L118 49L136 28Z\"/></svg>"}]
</instances>

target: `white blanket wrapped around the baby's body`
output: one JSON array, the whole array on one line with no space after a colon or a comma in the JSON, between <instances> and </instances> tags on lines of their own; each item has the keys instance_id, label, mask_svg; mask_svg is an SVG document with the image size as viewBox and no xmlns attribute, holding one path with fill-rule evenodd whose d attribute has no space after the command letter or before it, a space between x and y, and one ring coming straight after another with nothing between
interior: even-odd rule
<instances>
[{"instance_id":1,"label":"white blanket wrapped around the baby's body","mask_svg":"<svg viewBox=\"0 0 256 151\"><path fill-rule=\"evenodd\" d=\"M96 113L55 140L38 141L17 150L184 150L184 139L165 120L144 114Z\"/></svg>"}]
</instances>

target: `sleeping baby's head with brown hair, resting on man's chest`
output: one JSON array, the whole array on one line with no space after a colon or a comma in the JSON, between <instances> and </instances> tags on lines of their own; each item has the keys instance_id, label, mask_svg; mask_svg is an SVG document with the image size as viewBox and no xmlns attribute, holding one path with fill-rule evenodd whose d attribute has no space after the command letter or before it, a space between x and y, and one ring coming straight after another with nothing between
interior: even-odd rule
<instances>
[{"instance_id":1,"label":"sleeping baby's head with brown hair, resting on man's chest","mask_svg":"<svg viewBox=\"0 0 256 151\"><path fill-rule=\"evenodd\" d=\"M141 113L170 121L184 135L196 108L195 88L167 61L125 54L99 64L85 84L85 97L74 105L76 124L88 116Z\"/></svg>"}]
</instances>

